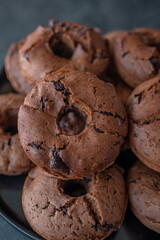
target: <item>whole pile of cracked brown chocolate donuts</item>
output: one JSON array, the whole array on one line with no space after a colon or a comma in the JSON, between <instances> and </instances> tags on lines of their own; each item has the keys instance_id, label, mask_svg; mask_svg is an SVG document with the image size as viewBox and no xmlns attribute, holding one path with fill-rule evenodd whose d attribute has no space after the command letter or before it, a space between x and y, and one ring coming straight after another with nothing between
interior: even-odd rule
<instances>
[{"instance_id":1,"label":"whole pile of cracked brown chocolate donuts","mask_svg":"<svg viewBox=\"0 0 160 240\"><path fill-rule=\"evenodd\" d=\"M128 199L124 170L114 162L128 142L160 171L158 40L158 30L102 36L51 18L11 45L5 70L18 93L0 96L0 173L31 169L22 206L45 239L104 239L120 228ZM148 167L136 162L127 186L135 215L158 232L160 175ZM151 192L155 201L146 204Z\"/></svg>"}]
</instances>

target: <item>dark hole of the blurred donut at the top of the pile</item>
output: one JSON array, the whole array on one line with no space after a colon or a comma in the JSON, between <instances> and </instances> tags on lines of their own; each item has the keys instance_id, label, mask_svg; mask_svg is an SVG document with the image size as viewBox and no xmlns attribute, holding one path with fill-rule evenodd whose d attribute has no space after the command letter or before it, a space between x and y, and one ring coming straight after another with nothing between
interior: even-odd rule
<instances>
[{"instance_id":1,"label":"dark hole of the blurred donut at the top of the pile","mask_svg":"<svg viewBox=\"0 0 160 240\"><path fill-rule=\"evenodd\" d=\"M62 40L58 40L56 43L52 43L51 48L55 55L67 59L70 59L74 52L72 46Z\"/></svg>"}]
</instances>

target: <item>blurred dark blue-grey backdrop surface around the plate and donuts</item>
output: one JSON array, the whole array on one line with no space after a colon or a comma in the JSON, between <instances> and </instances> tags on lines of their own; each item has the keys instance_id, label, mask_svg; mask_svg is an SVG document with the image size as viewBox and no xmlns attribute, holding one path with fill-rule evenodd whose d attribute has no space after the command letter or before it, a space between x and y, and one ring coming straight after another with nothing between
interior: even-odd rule
<instances>
[{"instance_id":1,"label":"blurred dark blue-grey backdrop surface around the plate and donuts","mask_svg":"<svg viewBox=\"0 0 160 240\"><path fill-rule=\"evenodd\" d=\"M102 32L135 27L160 28L159 0L0 0L0 67L9 45L50 16L96 26ZM0 218L0 240L27 240Z\"/></svg>"}]
</instances>

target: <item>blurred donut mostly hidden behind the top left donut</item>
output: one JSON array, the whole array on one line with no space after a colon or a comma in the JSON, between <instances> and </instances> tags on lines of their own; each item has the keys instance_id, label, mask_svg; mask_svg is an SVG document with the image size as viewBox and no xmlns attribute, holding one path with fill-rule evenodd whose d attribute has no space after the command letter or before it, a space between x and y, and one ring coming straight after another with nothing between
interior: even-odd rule
<instances>
[{"instance_id":1,"label":"blurred donut mostly hidden behind the top left donut","mask_svg":"<svg viewBox=\"0 0 160 240\"><path fill-rule=\"evenodd\" d=\"M6 56L5 71L13 88L19 93L27 94L32 89L32 85L29 84L20 70L18 49L22 44L20 42L19 44L14 43L10 46Z\"/></svg>"}]
</instances>

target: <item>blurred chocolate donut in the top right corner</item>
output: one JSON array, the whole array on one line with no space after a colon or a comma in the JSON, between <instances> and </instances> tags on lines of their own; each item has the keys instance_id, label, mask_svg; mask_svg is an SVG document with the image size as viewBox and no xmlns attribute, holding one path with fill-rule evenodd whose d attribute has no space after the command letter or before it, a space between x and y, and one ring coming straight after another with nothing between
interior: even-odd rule
<instances>
[{"instance_id":1,"label":"blurred chocolate donut in the top right corner","mask_svg":"<svg viewBox=\"0 0 160 240\"><path fill-rule=\"evenodd\" d=\"M113 55L122 79L135 88L159 74L160 30L139 29L114 38Z\"/></svg>"}]
</instances>

